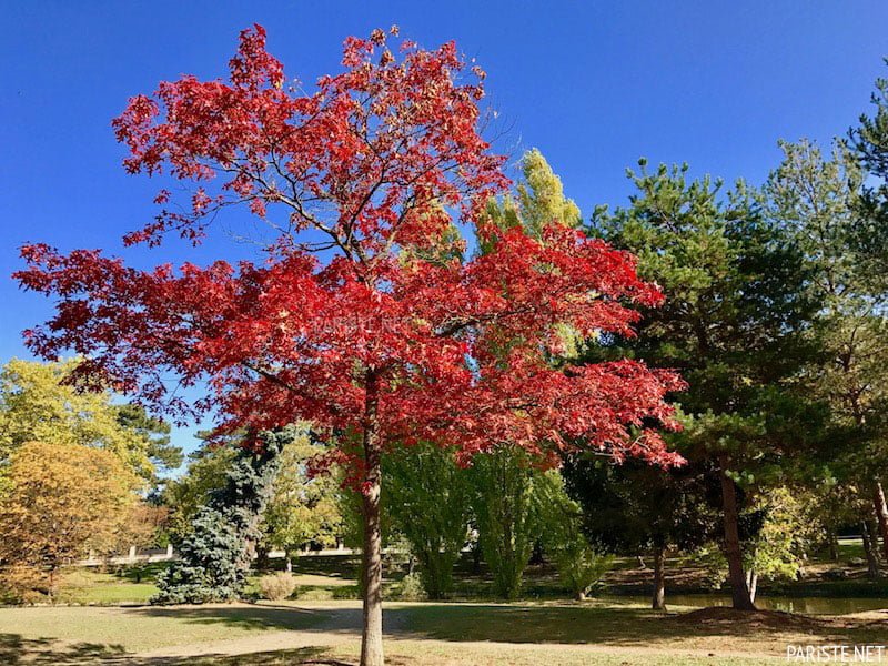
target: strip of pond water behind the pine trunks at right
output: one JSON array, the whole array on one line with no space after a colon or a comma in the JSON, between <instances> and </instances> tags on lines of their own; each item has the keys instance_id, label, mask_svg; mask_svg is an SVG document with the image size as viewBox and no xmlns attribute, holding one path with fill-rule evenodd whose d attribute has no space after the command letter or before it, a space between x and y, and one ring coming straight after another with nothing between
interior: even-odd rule
<instances>
[{"instance_id":1,"label":"strip of pond water behind the pine trunks at right","mask_svg":"<svg viewBox=\"0 0 888 666\"><path fill-rule=\"evenodd\" d=\"M604 595L601 598L617 603L650 603L650 598L646 596ZM730 606L730 597L714 594L670 595L667 593L666 606L692 606L699 608L705 608L707 606ZM756 606L766 610L784 610L786 613L804 613L806 615L848 615L849 613L888 609L888 598L759 596L756 597Z\"/></svg>"}]
</instances>

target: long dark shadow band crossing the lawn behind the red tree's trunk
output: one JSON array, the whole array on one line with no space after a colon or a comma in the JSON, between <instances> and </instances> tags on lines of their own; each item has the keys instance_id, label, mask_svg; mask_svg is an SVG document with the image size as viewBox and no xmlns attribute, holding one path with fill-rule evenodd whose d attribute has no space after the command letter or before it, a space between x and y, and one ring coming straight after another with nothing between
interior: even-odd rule
<instances>
[{"instance_id":1,"label":"long dark shadow band crossing the lawn behind the red tree's trunk","mask_svg":"<svg viewBox=\"0 0 888 666\"><path fill-rule=\"evenodd\" d=\"M359 607L312 609L299 605L178 606L128 608L143 617L216 624L241 629L360 634ZM741 613L707 608L692 613L655 613L614 604L389 604L386 635L448 642L599 643L650 645L692 638L779 640L790 635L835 643L866 643L888 635L888 619L854 619ZM319 640L320 642L320 640Z\"/></svg>"}]
</instances>

